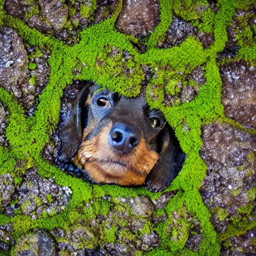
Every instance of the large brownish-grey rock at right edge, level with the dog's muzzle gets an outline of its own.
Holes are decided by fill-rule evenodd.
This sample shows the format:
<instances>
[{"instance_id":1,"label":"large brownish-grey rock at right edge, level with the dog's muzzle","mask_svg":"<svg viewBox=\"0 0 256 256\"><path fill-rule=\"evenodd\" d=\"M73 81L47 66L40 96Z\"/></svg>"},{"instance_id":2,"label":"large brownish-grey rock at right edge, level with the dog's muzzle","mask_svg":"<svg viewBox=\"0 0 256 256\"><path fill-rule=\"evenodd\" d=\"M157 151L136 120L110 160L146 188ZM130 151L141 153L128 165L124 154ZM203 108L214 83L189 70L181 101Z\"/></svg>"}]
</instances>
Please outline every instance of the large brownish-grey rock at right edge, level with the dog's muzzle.
<instances>
[{"instance_id":1,"label":"large brownish-grey rock at right edge, level with the dog's muzzle","mask_svg":"<svg viewBox=\"0 0 256 256\"><path fill-rule=\"evenodd\" d=\"M200 193L216 230L224 232L229 222L235 224L241 216L252 221L256 135L215 122L203 126L202 141L200 155L208 169Z\"/></svg>"}]
</instances>

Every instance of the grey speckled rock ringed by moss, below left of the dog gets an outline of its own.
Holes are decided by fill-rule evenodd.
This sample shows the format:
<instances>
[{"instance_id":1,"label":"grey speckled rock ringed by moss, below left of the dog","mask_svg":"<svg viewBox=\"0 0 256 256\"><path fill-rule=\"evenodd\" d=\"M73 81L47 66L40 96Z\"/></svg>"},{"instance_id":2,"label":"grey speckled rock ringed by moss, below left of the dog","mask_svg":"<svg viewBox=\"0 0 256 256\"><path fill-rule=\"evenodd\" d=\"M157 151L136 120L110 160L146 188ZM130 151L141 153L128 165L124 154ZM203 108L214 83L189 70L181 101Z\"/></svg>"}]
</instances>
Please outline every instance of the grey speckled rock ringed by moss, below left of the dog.
<instances>
[{"instance_id":1,"label":"grey speckled rock ringed by moss, below left of the dog","mask_svg":"<svg viewBox=\"0 0 256 256\"><path fill-rule=\"evenodd\" d=\"M7 215L20 212L33 219L54 215L70 201L70 188L55 184L54 179L41 178L34 167L28 169L18 184L12 199L17 202L6 207Z\"/></svg>"}]
</instances>

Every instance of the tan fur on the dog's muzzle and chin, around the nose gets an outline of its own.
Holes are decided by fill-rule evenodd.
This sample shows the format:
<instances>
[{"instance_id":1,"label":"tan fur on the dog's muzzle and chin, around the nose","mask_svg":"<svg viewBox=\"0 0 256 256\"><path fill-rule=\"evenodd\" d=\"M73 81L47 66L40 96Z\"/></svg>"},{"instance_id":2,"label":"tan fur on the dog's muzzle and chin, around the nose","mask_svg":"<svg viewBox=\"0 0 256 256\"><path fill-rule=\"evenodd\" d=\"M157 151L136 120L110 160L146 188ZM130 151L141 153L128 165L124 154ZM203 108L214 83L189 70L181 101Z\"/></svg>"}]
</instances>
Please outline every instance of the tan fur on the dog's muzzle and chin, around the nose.
<instances>
[{"instance_id":1,"label":"tan fur on the dog's muzzle and chin, around the nose","mask_svg":"<svg viewBox=\"0 0 256 256\"><path fill-rule=\"evenodd\" d=\"M147 149L143 137L132 152L123 155L114 152L108 144L111 127L110 123L97 136L82 142L74 157L75 164L82 165L98 183L143 184L159 157L158 153ZM85 134L88 134L87 128L84 129L83 138Z\"/></svg>"}]
</instances>

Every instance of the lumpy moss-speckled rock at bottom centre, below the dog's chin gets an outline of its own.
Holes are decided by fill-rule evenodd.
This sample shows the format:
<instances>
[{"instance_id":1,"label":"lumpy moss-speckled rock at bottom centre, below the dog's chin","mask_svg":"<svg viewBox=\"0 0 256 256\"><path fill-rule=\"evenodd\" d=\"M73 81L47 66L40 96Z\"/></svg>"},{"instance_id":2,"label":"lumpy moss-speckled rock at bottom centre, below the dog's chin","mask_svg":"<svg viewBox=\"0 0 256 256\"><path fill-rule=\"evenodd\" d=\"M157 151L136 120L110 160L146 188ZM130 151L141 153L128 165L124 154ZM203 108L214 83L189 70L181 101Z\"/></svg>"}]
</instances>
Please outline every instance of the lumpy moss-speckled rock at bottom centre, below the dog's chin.
<instances>
[{"instance_id":1,"label":"lumpy moss-speckled rock at bottom centre, below the dog's chin","mask_svg":"<svg viewBox=\"0 0 256 256\"><path fill-rule=\"evenodd\" d=\"M160 246L159 237L152 230L153 204L147 196L111 198L104 196L86 203L80 209L109 204L109 212L83 221L78 220L67 229L54 229L51 234L58 242L60 255L134 255L136 250L147 251ZM90 250L93 247L100 249Z\"/></svg>"}]
</instances>

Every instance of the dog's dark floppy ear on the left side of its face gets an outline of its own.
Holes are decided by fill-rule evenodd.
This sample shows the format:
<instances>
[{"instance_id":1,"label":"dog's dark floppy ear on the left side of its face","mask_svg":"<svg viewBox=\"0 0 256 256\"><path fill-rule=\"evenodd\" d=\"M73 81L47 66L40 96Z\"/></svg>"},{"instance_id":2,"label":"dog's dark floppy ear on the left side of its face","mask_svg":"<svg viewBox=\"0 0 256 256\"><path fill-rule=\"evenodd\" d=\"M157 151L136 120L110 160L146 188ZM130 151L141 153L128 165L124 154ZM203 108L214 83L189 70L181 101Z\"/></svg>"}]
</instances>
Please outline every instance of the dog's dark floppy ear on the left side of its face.
<instances>
[{"instance_id":1,"label":"dog's dark floppy ear on the left side of its face","mask_svg":"<svg viewBox=\"0 0 256 256\"><path fill-rule=\"evenodd\" d=\"M73 102L69 103L66 119L59 128L60 147L57 159L61 162L70 161L81 144L85 123L84 103L89 86L90 83L86 83Z\"/></svg>"}]
</instances>

